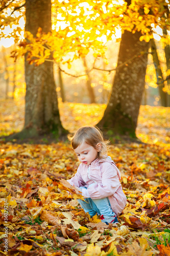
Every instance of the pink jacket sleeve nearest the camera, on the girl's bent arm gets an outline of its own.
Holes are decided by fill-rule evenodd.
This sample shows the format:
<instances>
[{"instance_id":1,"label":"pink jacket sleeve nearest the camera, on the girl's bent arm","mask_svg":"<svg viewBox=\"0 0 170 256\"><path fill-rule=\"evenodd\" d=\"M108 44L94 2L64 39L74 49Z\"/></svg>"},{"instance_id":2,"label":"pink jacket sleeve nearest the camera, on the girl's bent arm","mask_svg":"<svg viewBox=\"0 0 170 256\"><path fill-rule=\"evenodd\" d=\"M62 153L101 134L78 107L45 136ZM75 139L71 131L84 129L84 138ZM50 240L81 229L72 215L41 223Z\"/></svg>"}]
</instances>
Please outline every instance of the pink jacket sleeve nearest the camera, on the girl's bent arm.
<instances>
[{"instance_id":1,"label":"pink jacket sleeve nearest the camera, on the girl's bent arm","mask_svg":"<svg viewBox=\"0 0 170 256\"><path fill-rule=\"evenodd\" d=\"M102 181L93 183L87 191L92 199L112 196L120 186L117 169L108 162L102 163Z\"/></svg>"}]
</instances>

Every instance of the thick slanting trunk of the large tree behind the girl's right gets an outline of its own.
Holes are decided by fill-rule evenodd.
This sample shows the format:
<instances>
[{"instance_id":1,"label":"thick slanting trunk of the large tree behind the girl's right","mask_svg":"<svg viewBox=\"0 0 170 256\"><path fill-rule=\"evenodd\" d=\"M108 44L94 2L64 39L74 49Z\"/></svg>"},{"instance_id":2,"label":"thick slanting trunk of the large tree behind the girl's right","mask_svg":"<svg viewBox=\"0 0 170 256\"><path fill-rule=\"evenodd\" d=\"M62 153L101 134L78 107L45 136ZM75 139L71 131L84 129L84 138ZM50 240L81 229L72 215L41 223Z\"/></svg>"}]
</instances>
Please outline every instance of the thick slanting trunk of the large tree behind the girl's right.
<instances>
[{"instance_id":1,"label":"thick slanting trunk of the large tree behind the girl's right","mask_svg":"<svg viewBox=\"0 0 170 256\"><path fill-rule=\"evenodd\" d=\"M128 31L122 35L117 66L125 61L127 63L116 70L109 103L97 124L110 136L122 134L135 137L149 49L149 43L140 41L140 36L140 32L132 34Z\"/></svg>"}]
</instances>

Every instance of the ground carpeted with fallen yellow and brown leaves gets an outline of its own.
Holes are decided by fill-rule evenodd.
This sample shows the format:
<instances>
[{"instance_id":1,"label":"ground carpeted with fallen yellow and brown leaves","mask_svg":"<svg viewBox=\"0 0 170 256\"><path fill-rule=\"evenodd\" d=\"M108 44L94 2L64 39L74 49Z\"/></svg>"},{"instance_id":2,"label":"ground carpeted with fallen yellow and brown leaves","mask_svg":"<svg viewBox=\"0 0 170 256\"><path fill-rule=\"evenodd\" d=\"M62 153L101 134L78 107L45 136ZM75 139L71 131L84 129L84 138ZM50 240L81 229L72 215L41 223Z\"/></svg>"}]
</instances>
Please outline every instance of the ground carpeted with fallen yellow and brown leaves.
<instances>
[{"instance_id":1,"label":"ground carpeted with fallen yellow and brown leaves","mask_svg":"<svg viewBox=\"0 0 170 256\"><path fill-rule=\"evenodd\" d=\"M77 126L85 124L86 117L82 120L75 114L85 111L83 104L81 107L70 104L65 104L60 112L65 125L68 122L70 127L72 119L73 132ZM10 118L9 110L1 112L3 135L8 135L12 129L16 131L16 127L23 124L20 115L23 109L19 104L15 108L11 109L11 113L16 111L15 116L11 114ZM71 108L72 115L69 114ZM102 115L100 108L103 106L93 106L88 123ZM97 216L90 219L80 208L77 195L67 193L69 189L62 179L71 178L79 165L68 143L14 144L2 141L0 255L170 255L168 115L169 108L141 108L138 134L143 141L148 138L144 142L149 143L110 145L109 155L120 169L127 196L127 205L117 226L106 225ZM8 252L4 247L6 230Z\"/></svg>"}]
</instances>

